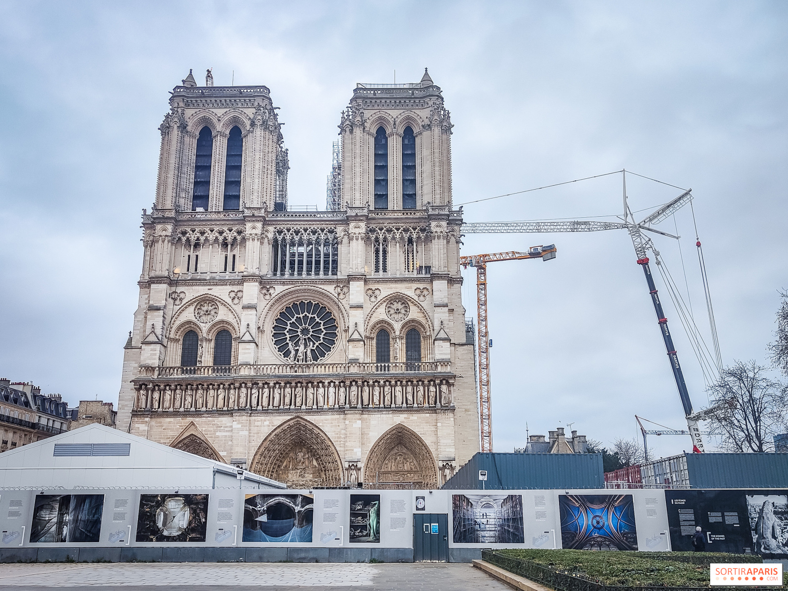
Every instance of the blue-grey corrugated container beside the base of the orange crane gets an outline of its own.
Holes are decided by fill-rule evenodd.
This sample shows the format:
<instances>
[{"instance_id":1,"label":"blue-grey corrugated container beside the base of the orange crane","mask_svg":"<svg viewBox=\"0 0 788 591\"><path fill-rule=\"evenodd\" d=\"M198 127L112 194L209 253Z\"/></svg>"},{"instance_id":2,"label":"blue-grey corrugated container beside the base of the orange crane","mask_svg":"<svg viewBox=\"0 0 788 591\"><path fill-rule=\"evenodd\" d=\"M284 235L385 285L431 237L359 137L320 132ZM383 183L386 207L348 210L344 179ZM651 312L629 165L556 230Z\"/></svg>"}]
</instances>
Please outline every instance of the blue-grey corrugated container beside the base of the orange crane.
<instances>
[{"instance_id":1,"label":"blue-grey corrugated container beside the base of the orange crane","mask_svg":"<svg viewBox=\"0 0 788 591\"><path fill-rule=\"evenodd\" d=\"M486 481L479 480L479 471ZM604 489L602 454L482 453L443 489Z\"/></svg>"}]
</instances>

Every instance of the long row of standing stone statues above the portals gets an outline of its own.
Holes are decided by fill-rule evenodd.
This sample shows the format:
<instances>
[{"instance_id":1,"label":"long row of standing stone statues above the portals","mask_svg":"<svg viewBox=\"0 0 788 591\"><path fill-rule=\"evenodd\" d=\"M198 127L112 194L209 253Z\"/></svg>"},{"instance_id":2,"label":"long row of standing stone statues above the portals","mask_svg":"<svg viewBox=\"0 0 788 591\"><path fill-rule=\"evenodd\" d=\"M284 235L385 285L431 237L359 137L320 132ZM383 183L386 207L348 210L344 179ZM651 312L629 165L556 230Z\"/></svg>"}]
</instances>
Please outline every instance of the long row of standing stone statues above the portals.
<instances>
[{"instance_id":1,"label":"long row of standing stone statues above the portals","mask_svg":"<svg viewBox=\"0 0 788 591\"><path fill-rule=\"evenodd\" d=\"M448 378L418 379L413 377L407 379L403 377L398 379L392 377L391 379L293 379L227 382L189 380L186 383L180 381L176 383L148 383L143 378L138 378L134 385L133 411L263 411L269 409L296 411L370 407L452 407L452 382L453 379Z\"/></svg>"}]
</instances>

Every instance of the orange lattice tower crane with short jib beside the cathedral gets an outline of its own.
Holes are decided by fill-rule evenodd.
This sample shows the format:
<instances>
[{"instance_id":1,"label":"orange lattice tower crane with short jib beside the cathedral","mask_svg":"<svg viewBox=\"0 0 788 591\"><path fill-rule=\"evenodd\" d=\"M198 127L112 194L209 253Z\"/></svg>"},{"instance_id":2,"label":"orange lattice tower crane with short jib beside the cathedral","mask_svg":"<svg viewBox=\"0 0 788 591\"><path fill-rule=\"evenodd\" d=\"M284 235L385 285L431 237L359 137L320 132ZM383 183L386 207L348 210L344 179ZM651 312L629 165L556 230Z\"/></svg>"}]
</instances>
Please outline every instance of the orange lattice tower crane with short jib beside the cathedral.
<instances>
[{"instance_id":1,"label":"orange lattice tower crane with short jib beside the cathedral","mask_svg":"<svg viewBox=\"0 0 788 591\"><path fill-rule=\"evenodd\" d=\"M479 422L481 451L492 452L492 404L490 403L490 357L489 332L487 330L487 263L494 261L519 261L522 258L541 258L549 261L556 258L556 245L530 247L528 252L493 252L489 255L460 257L459 264L465 269L476 267L476 299L478 303L479 333Z\"/></svg>"}]
</instances>

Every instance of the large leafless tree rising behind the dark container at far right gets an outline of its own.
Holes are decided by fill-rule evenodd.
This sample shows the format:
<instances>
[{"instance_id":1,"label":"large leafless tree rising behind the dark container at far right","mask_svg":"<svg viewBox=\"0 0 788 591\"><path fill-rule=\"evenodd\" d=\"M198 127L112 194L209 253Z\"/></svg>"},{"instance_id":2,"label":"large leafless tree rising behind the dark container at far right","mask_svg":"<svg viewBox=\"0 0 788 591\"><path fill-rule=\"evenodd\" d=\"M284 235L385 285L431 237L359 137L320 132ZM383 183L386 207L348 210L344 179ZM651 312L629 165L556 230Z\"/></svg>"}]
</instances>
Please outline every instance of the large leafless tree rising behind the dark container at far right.
<instances>
[{"instance_id":1,"label":"large leafless tree rising behind the dark container at far right","mask_svg":"<svg viewBox=\"0 0 788 591\"><path fill-rule=\"evenodd\" d=\"M786 388L754 361L737 362L708 388L706 416L711 432L727 452L768 452L788 415Z\"/></svg>"}]
</instances>

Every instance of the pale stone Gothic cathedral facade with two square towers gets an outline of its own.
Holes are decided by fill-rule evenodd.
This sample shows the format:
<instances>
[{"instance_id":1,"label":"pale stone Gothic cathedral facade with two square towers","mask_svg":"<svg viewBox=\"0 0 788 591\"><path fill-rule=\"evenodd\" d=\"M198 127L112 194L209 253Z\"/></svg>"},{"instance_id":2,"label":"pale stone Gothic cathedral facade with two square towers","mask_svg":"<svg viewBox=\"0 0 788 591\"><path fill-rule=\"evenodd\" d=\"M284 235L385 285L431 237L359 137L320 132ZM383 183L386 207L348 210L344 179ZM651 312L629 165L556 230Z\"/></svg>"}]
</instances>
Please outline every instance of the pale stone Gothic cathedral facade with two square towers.
<instances>
[{"instance_id":1,"label":"pale stone Gothic cathedral facade with two square towers","mask_svg":"<svg viewBox=\"0 0 788 591\"><path fill-rule=\"evenodd\" d=\"M118 426L293 488L436 488L479 449L429 74L358 84L326 211L288 208L269 89L173 89Z\"/></svg>"}]
</instances>

